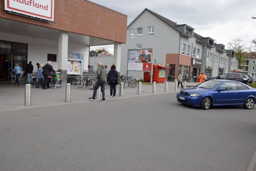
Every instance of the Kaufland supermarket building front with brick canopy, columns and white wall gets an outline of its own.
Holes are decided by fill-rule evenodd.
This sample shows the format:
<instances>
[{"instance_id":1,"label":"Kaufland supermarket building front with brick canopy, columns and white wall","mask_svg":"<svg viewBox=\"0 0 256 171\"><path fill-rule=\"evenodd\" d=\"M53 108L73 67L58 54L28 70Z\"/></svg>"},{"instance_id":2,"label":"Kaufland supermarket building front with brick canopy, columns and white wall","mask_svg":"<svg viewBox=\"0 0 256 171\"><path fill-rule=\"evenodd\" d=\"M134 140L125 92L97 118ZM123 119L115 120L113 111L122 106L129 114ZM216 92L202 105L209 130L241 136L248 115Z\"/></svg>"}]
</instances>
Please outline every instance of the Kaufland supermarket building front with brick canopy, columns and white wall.
<instances>
[{"instance_id":1,"label":"Kaufland supermarket building front with brick canopy, columns and white wall","mask_svg":"<svg viewBox=\"0 0 256 171\"><path fill-rule=\"evenodd\" d=\"M67 75L68 62L88 70L90 46L114 44L120 72L121 43L126 43L127 16L87 0L0 0L0 80L9 80L18 63L32 61ZM64 81L65 83L65 81Z\"/></svg>"}]
</instances>

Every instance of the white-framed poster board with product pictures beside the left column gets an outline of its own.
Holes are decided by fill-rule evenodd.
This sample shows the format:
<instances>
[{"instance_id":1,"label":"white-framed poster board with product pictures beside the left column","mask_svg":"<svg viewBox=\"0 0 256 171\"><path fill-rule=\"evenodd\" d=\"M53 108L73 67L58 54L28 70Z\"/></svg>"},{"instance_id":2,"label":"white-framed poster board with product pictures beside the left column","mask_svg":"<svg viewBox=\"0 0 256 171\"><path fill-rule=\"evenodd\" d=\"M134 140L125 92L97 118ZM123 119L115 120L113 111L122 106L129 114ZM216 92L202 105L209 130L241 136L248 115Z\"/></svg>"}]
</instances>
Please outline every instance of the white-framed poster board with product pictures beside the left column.
<instances>
[{"instance_id":1,"label":"white-framed poster board with product pictures beside the left column","mask_svg":"<svg viewBox=\"0 0 256 171\"><path fill-rule=\"evenodd\" d=\"M82 74L82 60L68 59L67 73L68 74Z\"/></svg>"}]
</instances>

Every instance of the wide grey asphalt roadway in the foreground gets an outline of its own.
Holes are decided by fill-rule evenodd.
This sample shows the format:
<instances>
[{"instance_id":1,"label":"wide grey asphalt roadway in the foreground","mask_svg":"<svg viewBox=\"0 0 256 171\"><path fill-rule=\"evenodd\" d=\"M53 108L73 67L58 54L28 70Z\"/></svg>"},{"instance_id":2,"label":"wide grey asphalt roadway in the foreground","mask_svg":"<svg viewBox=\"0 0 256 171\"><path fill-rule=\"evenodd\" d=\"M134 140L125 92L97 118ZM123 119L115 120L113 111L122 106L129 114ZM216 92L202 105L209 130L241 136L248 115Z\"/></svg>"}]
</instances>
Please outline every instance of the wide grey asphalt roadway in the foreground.
<instances>
[{"instance_id":1,"label":"wide grey asphalt roadway in the foreground","mask_svg":"<svg viewBox=\"0 0 256 171\"><path fill-rule=\"evenodd\" d=\"M182 105L175 93L0 113L0 170L245 171L256 108Z\"/></svg>"}]
</instances>

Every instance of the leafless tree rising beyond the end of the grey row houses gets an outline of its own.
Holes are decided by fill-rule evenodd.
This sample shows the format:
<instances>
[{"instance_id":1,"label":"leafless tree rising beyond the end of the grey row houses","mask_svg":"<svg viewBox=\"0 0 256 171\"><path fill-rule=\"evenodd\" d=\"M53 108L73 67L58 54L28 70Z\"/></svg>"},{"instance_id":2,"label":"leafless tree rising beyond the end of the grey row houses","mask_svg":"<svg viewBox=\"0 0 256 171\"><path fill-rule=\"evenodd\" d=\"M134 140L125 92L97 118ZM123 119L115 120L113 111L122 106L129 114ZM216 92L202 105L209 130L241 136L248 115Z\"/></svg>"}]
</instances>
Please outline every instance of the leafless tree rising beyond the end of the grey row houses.
<instances>
[{"instance_id":1,"label":"leafless tree rising beyond the end of the grey row houses","mask_svg":"<svg viewBox=\"0 0 256 171\"><path fill-rule=\"evenodd\" d=\"M244 57L247 49L242 39L240 39L239 37L234 39L232 42L228 42L228 48L234 50L235 56L239 59L242 59ZM238 61L238 67L240 67L240 62L241 60Z\"/></svg>"}]
</instances>

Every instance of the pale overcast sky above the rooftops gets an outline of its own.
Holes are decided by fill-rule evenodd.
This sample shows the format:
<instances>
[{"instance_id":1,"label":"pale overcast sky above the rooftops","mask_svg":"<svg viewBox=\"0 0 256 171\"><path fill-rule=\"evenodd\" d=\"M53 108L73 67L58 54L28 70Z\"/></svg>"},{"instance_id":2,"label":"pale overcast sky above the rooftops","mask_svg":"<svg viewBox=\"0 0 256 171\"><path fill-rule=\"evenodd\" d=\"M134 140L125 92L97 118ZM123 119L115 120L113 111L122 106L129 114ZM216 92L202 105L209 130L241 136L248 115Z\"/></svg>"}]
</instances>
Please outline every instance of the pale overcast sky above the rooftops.
<instances>
[{"instance_id":1,"label":"pale overcast sky above the rooftops","mask_svg":"<svg viewBox=\"0 0 256 171\"><path fill-rule=\"evenodd\" d=\"M187 24L217 43L241 38L249 46L256 37L256 0L92 0L128 15L127 25L145 8L177 24ZM112 51L112 46L109 50ZM113 53L113 52L112 52Z\"/></svg>"}]
</instances>

